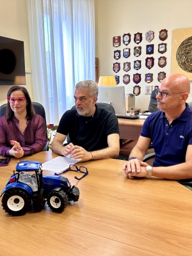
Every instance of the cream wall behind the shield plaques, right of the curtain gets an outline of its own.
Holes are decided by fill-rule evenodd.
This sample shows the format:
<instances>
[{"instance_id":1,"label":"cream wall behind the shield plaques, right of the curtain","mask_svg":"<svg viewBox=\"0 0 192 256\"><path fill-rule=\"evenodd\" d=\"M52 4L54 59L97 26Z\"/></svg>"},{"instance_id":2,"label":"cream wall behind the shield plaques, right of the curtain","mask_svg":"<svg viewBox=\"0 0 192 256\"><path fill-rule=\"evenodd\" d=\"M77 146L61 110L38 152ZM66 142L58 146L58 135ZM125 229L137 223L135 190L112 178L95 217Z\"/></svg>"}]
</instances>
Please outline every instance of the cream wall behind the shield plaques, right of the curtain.
<instances>
[{"instance_id":1,"label":"cream wall behind the shield plaques, right of the curtain","mask_svg":"<svg viewBox=\"0 0 192 256\"><path fill-rule=\"evenodd\" d=\"M148 108L149 95L145 95L145 74L154 74L154 81L150 84L160 85L157 81L157 73L164 71L166 76L170 74L171 61L171 46L172 46L172 30L192 28L191 19L192 1L191 0L95 0L95 38L96 38L96 55L99 58L99 75L100 76L120 76L120 84L125 86L125 93L132 93L133 74L141 74L141 93L136 96L136 108L141 108L141 111ZM168 38L164 41L167 44L167 51L160 54L158 44L159 31L161 29L168 30ZM154 31L154 40L150 43L145 39L147 31ZM134 43L134 34L142 33L143 40L138 45L141 46L141 56L135 57L133 49L137 44ZM113 47L113 36L121 36L124 33L131 34L131 43L125 46L121 42L120 47ZM146 54L146 45L154 44L154 54ZM131 56L124 58L123 56L117 62L121 63L121 70L118 73L113 71L113 63L116 60L113 58L116 49L123 51L125 48L131 48ZM150 70L145 67L145 58L153 56L155 65ZM157 64L158 58L165 56L167 59L166 67L160 68ZM134 60L141 60L141 68L135 70L133 68ZM123 70L124 62L131 62L131 70L128 72L131 82L124 84L122 77L126 72ZM191 83L192 85L192 83ZM191 90L192 91L192 90ZM189 95L188 102L192 102L192 92Z\"/></svg>"}]
</instances>

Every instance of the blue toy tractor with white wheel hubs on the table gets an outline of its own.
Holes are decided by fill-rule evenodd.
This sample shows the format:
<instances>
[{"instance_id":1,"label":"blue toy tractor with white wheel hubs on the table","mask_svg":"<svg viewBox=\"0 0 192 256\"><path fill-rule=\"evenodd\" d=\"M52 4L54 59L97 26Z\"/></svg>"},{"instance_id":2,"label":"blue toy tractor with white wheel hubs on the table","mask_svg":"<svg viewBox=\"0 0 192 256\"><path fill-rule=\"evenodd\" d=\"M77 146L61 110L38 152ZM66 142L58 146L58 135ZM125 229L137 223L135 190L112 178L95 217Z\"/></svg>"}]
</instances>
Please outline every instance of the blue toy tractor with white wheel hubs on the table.
<instances>
[{"instance_id":1,"label":"blue toy tractor with white wheel hubs on the table","mask_svg":"<svg viewBox=\"0 0 192 256\"><path fill-rule=\"evenodd\" d=\"M45 202L54 212L62 212L68 201L78 201L79 189L71 186L67 178L60 175L42 175L42 164L38 161L20 161L16 172L3 189L1 205L13 216L25 214L31 201L33 209L42 209Z\"/></svg>"}]
</instances>

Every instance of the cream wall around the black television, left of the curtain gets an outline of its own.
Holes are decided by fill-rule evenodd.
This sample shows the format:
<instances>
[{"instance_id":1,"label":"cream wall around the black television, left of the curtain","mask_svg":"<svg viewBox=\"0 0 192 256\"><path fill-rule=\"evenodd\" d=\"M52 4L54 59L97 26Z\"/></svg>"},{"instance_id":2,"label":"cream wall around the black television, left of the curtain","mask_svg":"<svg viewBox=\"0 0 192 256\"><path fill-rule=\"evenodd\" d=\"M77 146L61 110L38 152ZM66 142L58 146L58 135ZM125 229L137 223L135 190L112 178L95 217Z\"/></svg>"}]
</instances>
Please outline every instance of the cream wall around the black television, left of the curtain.
<instances>
[{"instance_id":1,"label":"cream wall around the black television, left of the curtain","mask_svg":"<svg viewBox=\"0 0 192 256\"><path fill-rule=\"evenodd\" d=\"M31 70L26 0L0 0L0 36L24 41L25 67ZM0 86L0 106L7 102L6 93L11 87ZM31 74L26 74L26 88L33 100Z\"/></svg>"}]
</instances>

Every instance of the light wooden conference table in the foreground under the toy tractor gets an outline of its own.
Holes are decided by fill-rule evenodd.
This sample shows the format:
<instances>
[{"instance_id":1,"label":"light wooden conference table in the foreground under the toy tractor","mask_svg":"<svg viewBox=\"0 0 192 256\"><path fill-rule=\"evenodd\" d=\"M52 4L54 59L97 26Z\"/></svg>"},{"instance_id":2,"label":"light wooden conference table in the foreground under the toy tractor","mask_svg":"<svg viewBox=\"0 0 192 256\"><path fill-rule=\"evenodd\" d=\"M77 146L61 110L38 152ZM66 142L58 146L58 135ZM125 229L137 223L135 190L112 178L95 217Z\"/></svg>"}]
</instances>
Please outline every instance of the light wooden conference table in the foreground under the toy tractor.
<instances>
[{"instance_id":1,"label":"light wooden conference table in the foreground under the toy tractor","mask_svg":"<svg viewBox=\"0 0 192 256\"><path fill-rule=\"evenodd\" d=\"M40 152L22 160L44 163L56 156ZM1 190L16 163L0 167ZM124 163L78 163L89 172L79 181L65 173L80 197L61 214L47 205L18 217L0 209L0 255L191 255L191 191L171 180L127 179Z\"/></svg>"}]
</instances>

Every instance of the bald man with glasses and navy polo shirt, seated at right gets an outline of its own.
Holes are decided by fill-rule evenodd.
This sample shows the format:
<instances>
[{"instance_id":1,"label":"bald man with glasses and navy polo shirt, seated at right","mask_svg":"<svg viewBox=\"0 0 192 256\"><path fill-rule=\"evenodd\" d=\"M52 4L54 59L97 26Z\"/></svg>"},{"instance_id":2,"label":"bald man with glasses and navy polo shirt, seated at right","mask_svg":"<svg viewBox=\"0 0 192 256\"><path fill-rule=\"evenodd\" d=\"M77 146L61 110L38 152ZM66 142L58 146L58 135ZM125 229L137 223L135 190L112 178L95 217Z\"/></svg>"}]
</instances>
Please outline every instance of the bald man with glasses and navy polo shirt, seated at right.
<instances>
[{"instance_id":1,"label":"bald man with glasses and navy polo shirt, seated at right","mask_svg":"<svg viewBox=\"0 0 192 256\"><path fill-rule=\"evenodd\" d=\"M162 81L156 97L161 111L145 120L138 143L123 166L127 177L155 176L192 187L192 111L186 103L189 92L189 79L182 74ZM150 143L156 152L153 166L143 163Z\"/></svg>"}]
</instances>

